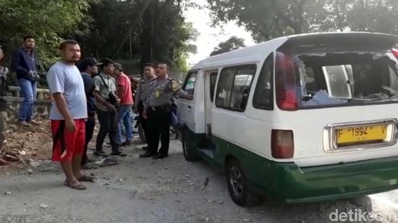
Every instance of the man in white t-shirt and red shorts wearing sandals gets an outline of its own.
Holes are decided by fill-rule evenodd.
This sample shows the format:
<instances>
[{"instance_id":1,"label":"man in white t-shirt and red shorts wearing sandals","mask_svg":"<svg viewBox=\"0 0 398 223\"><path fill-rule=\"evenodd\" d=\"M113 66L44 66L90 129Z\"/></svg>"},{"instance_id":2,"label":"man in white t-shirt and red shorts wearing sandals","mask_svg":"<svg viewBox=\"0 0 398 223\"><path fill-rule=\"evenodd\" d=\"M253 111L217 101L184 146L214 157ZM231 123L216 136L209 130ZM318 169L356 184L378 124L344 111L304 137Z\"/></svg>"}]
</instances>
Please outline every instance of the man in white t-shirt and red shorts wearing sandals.
<instances>
[{"instance_id":1,"label":"man in white t-shirt and red shorts wearing sandals","mask_svg":"<svg viewBox=\"0 0 398 223\"><path fill-rule=\"evenodd\" d=\"M48 87L54 101L49 119L53 132L53 161L60 162L65 173L65 185L84 190L83 181L93 181L81 173L80 164L85 146L87 119L86 93L79 69L80 46L74 40L60 45L62 60L47 73Z\"/></svg>"}]
</instances>

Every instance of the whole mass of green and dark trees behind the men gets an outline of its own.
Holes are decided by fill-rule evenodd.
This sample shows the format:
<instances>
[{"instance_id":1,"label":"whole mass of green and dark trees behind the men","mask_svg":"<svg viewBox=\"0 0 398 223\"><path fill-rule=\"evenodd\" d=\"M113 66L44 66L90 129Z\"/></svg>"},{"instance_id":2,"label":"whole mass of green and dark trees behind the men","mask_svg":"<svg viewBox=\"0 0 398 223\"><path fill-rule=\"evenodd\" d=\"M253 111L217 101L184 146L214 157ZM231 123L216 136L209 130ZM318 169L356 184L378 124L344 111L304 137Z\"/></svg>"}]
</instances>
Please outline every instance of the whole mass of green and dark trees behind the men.
<instances>
[{"instance_id":1,"label":"whole mass of green and dark trees behind the men","mask_svg":"<svg viewBox=\"0 0 398 223\"><path fill-rule=\"evenodd\" d=\"M6 48L2 63L30 35L44 71L59 59L63 39L77 40L83 57L161 60L187 70L187 56L196 52L191 41L198 35L182 16L189 7L197 6L189 0L0 0L0 44Z\"/></svg>"}]
</instances>

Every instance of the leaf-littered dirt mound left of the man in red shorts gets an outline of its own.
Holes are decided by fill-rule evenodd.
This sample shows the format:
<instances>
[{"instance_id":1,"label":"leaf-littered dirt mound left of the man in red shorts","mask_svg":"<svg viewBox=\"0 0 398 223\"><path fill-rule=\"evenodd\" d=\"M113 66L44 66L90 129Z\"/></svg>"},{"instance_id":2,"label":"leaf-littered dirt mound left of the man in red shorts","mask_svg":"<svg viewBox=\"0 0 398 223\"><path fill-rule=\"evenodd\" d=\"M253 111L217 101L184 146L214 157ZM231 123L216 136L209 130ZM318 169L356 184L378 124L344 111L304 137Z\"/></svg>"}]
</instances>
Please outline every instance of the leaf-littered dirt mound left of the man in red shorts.
<instances>
[{"instance_id":1,"label":"leaf-littered dirt mound left of the man in red shorts","mask_svg":"<svg viewBox=\"0 0 398 223\"><path fill-rule=\"evenodd\" d=\"M33 159L49 159L52 154L52 137L49 120L37 120L38 125L21 126L7 123L6 142L1 156L12 162L11 167L23 167Z\"/></svg>"}]
</instances>

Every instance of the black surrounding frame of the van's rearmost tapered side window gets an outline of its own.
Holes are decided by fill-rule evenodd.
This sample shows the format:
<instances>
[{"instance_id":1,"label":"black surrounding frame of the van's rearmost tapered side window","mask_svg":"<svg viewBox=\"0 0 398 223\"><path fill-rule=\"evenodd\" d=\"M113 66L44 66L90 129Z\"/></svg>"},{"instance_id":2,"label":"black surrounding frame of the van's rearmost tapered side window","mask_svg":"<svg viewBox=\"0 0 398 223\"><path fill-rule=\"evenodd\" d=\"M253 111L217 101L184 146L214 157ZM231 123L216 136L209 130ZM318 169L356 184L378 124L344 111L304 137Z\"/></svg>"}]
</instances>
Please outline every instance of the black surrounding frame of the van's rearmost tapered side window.
<instances>
[{"instance_id":1,"label":"black surrounding frame of the van's rearmost tapered side window","mask_svg":"<svg viewBox=\"0 0 398 223\"><path fill-rule=\"evenodd\" d=\"M265 70L265 66L267 66L267 62L268 60L272 60L272 67L271 67L271 80L270 80L270 85L271 85L271 94L269 95L270 97L270 104L269 105L257 105L255 102L255 96L256 94L258 94L259 88L260 88L260 82L259 79L262 75L265 75L264 72L266 72ZM258 75L258 78L256 80L256 88L254 89L253 92L253 98L252 98L252 106L256 109L261 109L261 110L273 110L274 106L273 104L275 103L273 97L275 96L275 87L273 86L273 82L274 82L274 76L275 76L275 52L270 52L269 55L265 58L263 66L261 67L260 73Z\"/></svg>"}]
</instances>

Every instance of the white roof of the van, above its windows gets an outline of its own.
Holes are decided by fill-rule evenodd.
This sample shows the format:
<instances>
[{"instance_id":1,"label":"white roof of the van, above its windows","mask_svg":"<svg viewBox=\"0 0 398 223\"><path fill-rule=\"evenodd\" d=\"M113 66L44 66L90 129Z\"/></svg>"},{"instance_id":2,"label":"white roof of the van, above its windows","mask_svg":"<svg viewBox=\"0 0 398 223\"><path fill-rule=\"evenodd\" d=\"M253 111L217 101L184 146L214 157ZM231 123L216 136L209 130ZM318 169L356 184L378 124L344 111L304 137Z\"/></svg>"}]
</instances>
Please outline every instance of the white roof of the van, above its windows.
<instances>
[{"instance_id":1,"label":"white roof of the van, above its windows","mask_svg":"<svg viewBox=\"0 0 398 223\"><path fill-rule=\"evenodd\" d=\"M377 39L377 42L381 44L390 45L391 47L397 43L398 36L383 34L383 33L368 33L368 32L330 32L330 33L310 33L310 34L299 34L279 37L272 39L263 43L259 43L253 46L244 47L241 49L233 50L230 52L214 55L212 57L206 58L197 64L195 64L191 70L201 69L201 68L216 68L222 66L228 66L231 64L246 64L257 62L263 60L265 57L264 52L275 50L287 41L294 43L309 42L311 43L313 39L351 39L355 40L357 38L361 39Z\"/></svg>"}]
</instances>

